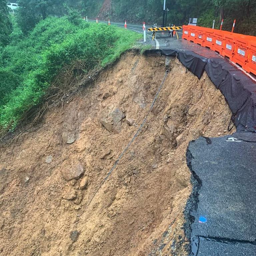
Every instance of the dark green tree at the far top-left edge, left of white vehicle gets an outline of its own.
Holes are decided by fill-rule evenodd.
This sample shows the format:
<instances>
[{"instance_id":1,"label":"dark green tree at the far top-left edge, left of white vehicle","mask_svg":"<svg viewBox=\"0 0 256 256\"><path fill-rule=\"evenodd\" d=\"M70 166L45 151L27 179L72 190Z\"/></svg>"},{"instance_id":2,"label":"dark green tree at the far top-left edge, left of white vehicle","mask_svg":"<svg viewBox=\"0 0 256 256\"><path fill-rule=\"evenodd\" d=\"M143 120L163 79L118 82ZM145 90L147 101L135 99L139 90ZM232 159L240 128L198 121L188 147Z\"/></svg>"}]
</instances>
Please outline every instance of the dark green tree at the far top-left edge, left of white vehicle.
<instances>
[{"instance_id":1,"label":"dark green tree at the far top-left edge, left of white vehicle","mask_svg":"<svg viewBox=\"0 0 256 256\"><path fill-rule=\"evenodd\" d=\"M12 31L12 23L9 18L9 10L6 2L0 0L0 46L9 42L9 35Z\"/></svg>"}]
</instances>

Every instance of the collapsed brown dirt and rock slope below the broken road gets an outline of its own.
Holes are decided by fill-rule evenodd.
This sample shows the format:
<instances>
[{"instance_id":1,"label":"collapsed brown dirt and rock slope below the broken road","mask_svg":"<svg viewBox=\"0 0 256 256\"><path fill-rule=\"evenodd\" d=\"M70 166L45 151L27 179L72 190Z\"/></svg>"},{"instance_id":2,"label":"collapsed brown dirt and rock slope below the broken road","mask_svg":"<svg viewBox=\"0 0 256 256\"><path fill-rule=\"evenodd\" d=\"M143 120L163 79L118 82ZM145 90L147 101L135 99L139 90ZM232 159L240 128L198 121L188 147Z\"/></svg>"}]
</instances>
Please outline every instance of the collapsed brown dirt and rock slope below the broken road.
<instances>
[{"instance_id":1,"label":"collapsed brown dirt and rock slope below the broken road","mask_svg":"<svg viewBox=\"0 0 256 256\"><path fill-rule=\"evenodd\" d=\"M228 134L231 113L206 74L171 59L122 56L40 127L0 147L0 255L186 255L188 142Z\"/></svg>"}]
</instances>

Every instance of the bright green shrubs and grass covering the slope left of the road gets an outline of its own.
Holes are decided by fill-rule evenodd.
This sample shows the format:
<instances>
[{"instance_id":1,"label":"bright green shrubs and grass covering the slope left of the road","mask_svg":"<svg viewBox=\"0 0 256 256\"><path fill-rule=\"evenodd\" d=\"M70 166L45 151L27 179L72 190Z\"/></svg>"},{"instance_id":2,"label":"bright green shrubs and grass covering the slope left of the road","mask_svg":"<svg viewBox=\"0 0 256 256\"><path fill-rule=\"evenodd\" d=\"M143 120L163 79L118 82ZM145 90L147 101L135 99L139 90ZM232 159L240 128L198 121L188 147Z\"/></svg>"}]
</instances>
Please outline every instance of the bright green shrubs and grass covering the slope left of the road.
<instances>
[{"instance_id":1,"label":"bright green shrubs and grass covering the slope left of the road","mask_svg":"<svg viewBox=\"0 0 256 256\"><path fill-rule=\"evenodd\" d=\"M28 35L14 23L10 43L0 48L0 129L14 128L40 103L63 66L79 60L86 74L115 60L141 37L74 17L48 17Z\"/></svg>"}]
</instances>

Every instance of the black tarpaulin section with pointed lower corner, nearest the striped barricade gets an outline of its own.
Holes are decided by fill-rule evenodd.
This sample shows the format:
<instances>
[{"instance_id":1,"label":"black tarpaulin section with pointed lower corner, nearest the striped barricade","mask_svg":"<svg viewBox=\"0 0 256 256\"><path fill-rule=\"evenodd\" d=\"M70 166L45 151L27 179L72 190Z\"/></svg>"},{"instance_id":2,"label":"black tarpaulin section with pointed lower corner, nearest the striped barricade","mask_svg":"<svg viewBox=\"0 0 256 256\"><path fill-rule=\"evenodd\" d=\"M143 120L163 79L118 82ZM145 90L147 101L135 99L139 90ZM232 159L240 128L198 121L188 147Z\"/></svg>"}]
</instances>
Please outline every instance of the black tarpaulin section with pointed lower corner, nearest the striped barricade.
<instances>
[{"instance_id":1,"label":"black tarpaulin section with pointed lower corner, nearest the striped barricade","mask_svg":"<svg viewBox=\"0 0 256 256\"><path fill-rule=\"evenodd\" d=\"M204 67L208 61L207 58L192 51L178 51L178 59L199 79L201 78L204 72Z\"/></svg>"}]
</instances>

